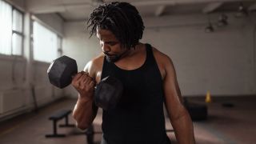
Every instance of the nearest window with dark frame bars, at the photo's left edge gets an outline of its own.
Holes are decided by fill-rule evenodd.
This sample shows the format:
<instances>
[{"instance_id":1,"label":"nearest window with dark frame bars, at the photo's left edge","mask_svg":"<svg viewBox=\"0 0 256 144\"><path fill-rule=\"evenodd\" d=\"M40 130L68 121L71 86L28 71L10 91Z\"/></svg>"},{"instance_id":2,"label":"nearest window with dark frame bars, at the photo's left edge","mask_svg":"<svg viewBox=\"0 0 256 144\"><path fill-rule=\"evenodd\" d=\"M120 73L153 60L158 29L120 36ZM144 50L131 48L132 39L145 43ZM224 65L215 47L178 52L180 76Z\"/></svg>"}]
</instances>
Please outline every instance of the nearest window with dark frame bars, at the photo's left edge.
<instances>
[{"instance_id":1,"label":"nearest window with dark frame bars, at the photo's left edge","mask_svg":"<svg viewBox=\"0 0 256 144\"><path fill-rule=\"evenodd\" d=\"M23 14L0 0L0 20L0 54L22 55Z\"/></svg>"}]
</instances>

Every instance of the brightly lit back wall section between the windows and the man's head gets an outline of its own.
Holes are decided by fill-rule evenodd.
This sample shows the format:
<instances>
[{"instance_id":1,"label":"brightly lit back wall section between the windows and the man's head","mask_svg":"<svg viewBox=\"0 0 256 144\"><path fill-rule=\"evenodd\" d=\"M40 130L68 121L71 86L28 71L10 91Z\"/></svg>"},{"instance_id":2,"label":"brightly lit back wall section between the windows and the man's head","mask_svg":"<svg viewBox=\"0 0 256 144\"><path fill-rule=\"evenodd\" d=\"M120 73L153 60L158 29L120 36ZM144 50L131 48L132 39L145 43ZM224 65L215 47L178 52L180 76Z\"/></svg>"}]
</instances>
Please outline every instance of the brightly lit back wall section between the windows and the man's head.
<instances>
[{"instance_id":1,"label":"brightly lit back wall section between the windows and the man's head","mask_svg":"<svg viewBox=\"0 0 256 144\"><path fill-rule=\"evenodd\" d=\"M65 22L63 39L63 54L74 58L78 64L78 71L86 66L90 59L101 52L98 39L86 30L86 22ZM77 92L72 86L66 88L67 95L77 97Z\"/></svg>"}]
</instances>

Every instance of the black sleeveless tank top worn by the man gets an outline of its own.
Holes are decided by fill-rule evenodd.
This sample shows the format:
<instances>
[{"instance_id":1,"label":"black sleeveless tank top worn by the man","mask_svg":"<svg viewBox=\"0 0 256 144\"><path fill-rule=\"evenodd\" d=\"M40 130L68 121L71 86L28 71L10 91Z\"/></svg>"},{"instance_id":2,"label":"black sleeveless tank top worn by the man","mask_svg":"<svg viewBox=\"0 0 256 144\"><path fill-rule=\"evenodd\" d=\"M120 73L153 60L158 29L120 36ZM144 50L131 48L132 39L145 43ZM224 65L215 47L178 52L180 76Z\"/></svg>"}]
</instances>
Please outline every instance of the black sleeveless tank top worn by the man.
<instances>
[{"instance_id":1,"label":"black sleeveless tank top worn by the man","mask_svg":"<svg viewBox=\"0 0 256 144\"><path fill-rule=\"evenodd\" d=\"M124 90L113 110L103 110L103 138L108 144L166 144L162 77L152 47L146 44L146 61L135 70L122 70L104 58L102 78L121 80Z\"/></svg>"}]
</instances>

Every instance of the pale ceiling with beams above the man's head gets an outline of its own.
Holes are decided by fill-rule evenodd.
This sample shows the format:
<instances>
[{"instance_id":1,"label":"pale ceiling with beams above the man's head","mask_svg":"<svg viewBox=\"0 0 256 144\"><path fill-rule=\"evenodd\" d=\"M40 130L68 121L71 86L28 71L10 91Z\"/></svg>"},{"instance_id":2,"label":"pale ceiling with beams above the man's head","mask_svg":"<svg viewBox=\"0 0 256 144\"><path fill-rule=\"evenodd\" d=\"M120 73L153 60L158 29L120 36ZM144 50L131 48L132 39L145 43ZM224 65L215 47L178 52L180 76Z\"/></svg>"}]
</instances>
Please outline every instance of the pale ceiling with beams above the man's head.
<instances>
[{"instance_id":1,"label":"pale ceiling with beams above the man's head","mask_svg":"<svg viewBox=\"0 0 256 144\"><path fill-rule=\"evenodd\" d=\"M26 9L34 14L58 14L64 21L83 21L98 4L114 0L26 0ZM126 0L138 8L142 17L174 14L208 14L237 11L244 6L256 10L256 0Z\"/></svg>"}]
</instances>

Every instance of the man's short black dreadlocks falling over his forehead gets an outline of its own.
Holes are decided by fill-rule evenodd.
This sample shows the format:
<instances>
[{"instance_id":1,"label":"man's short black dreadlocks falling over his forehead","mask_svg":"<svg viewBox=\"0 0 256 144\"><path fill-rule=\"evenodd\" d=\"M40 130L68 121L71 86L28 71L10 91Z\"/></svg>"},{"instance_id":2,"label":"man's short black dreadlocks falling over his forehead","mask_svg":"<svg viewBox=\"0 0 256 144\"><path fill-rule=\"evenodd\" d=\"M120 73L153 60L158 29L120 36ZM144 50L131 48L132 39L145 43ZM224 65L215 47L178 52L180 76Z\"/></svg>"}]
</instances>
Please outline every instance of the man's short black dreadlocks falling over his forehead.
<instances>
[{"instance_id":1,"label":"man's short black dreadlocks falling over his forehead","mask_svg":"<svg viewBox=\"0 0 256 144\"><path fill-rule=\"evenodd\" d=\"M123 48L130 49L142 38L145 26L135 6L127 2L112 2L98 6L90 14L87 28L91 27L90 37L96 34L97 27L110 30Z\"/></svg>"}]
</instances>

